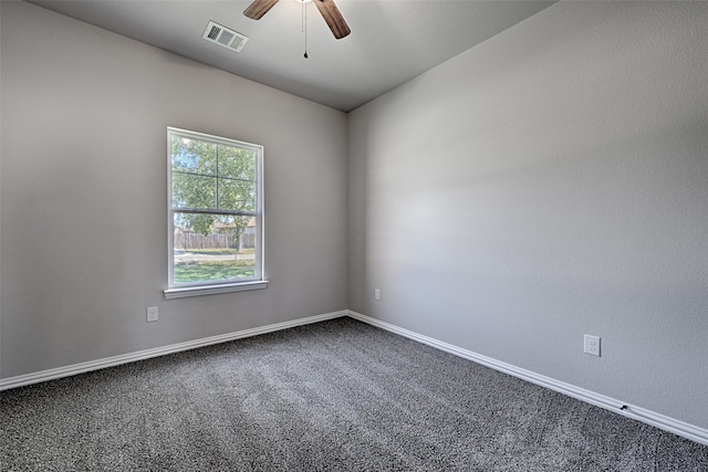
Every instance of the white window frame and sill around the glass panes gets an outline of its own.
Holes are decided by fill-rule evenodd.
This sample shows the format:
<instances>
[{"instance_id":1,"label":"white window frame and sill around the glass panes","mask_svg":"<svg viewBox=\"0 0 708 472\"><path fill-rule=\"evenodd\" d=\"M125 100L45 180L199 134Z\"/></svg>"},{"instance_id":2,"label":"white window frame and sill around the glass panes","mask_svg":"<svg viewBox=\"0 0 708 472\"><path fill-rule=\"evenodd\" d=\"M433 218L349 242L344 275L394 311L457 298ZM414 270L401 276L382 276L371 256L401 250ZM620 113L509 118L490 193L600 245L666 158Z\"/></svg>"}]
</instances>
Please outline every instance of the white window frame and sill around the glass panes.
<instances>
[{"instance_id":1,"label":"white window frame and sill around the glass panes","mask_svg":"<svg viewBox=\"0 0 708 472\"><path fill-rule=\"evenodd\" d=\"M179 209L173 207L173 165L171 165L171 137L207 141L217 145L238 147L256 153L256 270L253 277L243 281L206 281L191 283L175 283L175 212ZM184 209L183 209L184 211ZM229 214L214 210L211 214ZM230 213L233 214L233 213ZM250 216L250 214L249 214ZM263 146L244 143L220 136L208 135L175 127L167 128L167 218L168 218L168 286L165 289L166 298L179 298L186 296L209 295L215 293L240 292L247 290L258 290L268 287L268 280L264 276L263 260Z\"/></svg>"}]
</instances>

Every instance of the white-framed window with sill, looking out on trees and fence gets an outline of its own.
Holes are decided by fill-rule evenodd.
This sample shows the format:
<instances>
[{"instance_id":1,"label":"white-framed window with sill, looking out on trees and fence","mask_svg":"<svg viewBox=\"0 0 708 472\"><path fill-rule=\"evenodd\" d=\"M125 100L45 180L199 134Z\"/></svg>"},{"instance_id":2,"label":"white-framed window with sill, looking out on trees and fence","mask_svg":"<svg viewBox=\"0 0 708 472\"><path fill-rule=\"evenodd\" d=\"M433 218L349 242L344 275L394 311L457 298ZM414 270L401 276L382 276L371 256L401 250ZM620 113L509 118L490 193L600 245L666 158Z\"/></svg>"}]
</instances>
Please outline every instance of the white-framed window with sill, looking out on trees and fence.
<instances>
[{"instance_id":1,"label":"white-framed window with sill, looking out on trees and fence","mask_svg":"<svg viewBox=\"0 0 708 472\"><path fill-rule=\"evenodd\" d=\"M264 289L263 147L167 129L167 298Z\"/></svg>"}]
</instances>

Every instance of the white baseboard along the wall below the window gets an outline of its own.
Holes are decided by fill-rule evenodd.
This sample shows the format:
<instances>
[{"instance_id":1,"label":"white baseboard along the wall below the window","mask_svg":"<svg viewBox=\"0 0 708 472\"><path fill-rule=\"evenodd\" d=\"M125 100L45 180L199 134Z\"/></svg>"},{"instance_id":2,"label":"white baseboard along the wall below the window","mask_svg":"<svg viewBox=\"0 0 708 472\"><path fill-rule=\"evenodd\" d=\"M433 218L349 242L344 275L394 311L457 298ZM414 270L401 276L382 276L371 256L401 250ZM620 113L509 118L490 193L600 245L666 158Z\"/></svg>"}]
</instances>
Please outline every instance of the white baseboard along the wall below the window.
<instances>
[{"instance_id":1,"label":"white baseboard along the wall below the window","mask_svg":"<svg viewBox=\"0 0 708 472\"><path fill-rule=\"evenodd\" d=\"M181 350L196 349L198 347L210 346L212 344L227 343L229 340L241 339L259 334L272 333L281 329L288 329L295 326L309 325L311 323L323 322L325 319L339 318L346 316L346 311L325 313L323 315L309 316L306 318L293 319L291 322L277 323L273 325L260 326L251 329L243 329L236 333L227 333L218 336L205 337L201 339L188 340L186 343L171 344L169 346L156 347L153 349L138 350L136 353L123 354L119 356L106 357L103 359L91 360L87 363L74 364L66 367L55 369L41 370L39 373L27 374L17 377L0 379L0 390L9 388L22 387L24 385L39 384L41 381L53 380L62 377L74 376L91 370L104 369L121 364L134 363L136 360L149 359L152 357L164 356L166 354L179 353Z\"/></svg>"}]
</instances>

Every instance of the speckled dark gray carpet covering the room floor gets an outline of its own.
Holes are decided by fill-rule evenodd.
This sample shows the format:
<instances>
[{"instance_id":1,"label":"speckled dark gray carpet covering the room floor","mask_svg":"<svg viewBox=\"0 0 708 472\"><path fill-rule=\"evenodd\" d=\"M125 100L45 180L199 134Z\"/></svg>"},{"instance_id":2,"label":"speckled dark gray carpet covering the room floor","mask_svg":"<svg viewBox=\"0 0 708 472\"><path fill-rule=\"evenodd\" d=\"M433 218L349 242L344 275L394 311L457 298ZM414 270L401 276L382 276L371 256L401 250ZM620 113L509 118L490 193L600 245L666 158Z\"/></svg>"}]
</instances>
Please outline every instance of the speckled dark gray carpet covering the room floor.
<instances>
[{"instance_id":1,"label":"speckled dark gray carpet covering the room floor","mask_svg":"<svg viewBox=\"0 0 708 472\"><path fill-rule=\"evenodd\" d=\"M708 447L351 318L0 397L3 471L708 471Z\"/></svg>"}]
</instances>

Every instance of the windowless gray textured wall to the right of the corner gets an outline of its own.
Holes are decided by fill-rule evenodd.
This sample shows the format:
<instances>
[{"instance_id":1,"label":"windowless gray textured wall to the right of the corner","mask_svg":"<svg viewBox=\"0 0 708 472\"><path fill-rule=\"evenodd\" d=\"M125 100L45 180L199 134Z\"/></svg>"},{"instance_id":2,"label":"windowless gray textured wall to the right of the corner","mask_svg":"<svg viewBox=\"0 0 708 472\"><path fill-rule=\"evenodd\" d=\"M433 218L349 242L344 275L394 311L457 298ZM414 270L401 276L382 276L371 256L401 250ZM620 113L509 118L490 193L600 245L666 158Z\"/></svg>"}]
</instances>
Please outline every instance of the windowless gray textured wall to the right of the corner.
<instances>
[{"instance_id":1,"label":"windowless gray textured wall to the right of the corner","mask_svg":"<svg viewBox=\"0 0 708 472\"><path fill-rule=\"evenodd\" d=\"M556 3L354 111L350 308L708 427L706 25Z\"/></svg>"}]
</instances>

